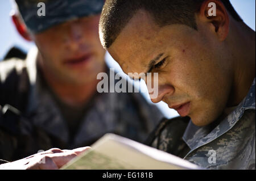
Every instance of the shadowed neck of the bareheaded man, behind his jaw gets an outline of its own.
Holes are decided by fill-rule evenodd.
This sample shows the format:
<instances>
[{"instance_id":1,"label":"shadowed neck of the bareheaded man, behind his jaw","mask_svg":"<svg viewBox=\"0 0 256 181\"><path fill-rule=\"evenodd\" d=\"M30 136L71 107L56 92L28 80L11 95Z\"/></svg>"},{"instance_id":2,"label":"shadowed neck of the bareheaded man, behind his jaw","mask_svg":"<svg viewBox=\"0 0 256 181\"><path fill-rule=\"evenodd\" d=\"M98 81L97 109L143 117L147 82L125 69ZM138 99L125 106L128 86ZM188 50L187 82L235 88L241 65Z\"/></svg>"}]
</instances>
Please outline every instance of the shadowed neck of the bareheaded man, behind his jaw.
<instances>
[{"instance_id":1,"label":"shadowed neck of the bareheaded man, behind his jaw","mask_svg":"<svg viewBox=\"0 0 256 181\"><path fill-rule=\"evenodd\" d=\"M255 78L255 31L245 23L230 23L234 74L228 107L237 106L247 95Z\"/></svg>"}]
</instances>

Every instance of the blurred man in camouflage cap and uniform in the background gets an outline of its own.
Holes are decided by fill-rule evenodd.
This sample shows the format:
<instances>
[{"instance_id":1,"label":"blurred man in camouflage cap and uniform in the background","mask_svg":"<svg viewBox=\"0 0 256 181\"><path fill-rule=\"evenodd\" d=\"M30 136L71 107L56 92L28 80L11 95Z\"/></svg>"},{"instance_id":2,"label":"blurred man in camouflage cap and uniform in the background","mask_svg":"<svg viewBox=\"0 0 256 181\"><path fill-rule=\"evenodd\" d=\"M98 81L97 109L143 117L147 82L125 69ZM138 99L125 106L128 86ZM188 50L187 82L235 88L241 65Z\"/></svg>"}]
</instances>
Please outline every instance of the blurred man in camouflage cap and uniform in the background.
<instances>
[{"instance_id":1,"label":"blurred man in camouflage cap and uniform in the background","mask_svg":"<svg viewBox=\"0 0 256 181\"><path fill-rule=\"evenodd\" d=\"M104 1L15 3L15 27L36 47L26 60L0 63L0 159L89 146L106 132L142 142L162 118L159 110L139 93L96 89L97 74L110 73L98 37ZM56 152L63 153L48 151Z\"/></svg>"}]
</instances>

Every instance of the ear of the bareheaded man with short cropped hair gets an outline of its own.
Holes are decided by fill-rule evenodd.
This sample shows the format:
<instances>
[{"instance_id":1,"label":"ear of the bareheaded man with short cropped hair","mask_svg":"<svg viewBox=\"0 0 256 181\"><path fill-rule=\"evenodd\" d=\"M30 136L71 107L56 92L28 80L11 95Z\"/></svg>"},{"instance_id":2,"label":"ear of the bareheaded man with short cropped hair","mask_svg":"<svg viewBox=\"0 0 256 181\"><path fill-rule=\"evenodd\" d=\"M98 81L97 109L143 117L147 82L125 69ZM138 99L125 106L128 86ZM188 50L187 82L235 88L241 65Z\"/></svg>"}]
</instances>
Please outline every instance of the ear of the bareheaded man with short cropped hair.
<instances>
[{"instance_id":1,"label":"ear of the bareheaded man with short cropped hair","mask_svg":"<svg viewBox=\"0 0 256 181\"><path fill-rule=\"evenodd\" d=\"M226 39L229 33L229 14L220 0L206 0L200 8L200 19L210 23L210 28L220 41Z\"/></svg>"}]
</instances>

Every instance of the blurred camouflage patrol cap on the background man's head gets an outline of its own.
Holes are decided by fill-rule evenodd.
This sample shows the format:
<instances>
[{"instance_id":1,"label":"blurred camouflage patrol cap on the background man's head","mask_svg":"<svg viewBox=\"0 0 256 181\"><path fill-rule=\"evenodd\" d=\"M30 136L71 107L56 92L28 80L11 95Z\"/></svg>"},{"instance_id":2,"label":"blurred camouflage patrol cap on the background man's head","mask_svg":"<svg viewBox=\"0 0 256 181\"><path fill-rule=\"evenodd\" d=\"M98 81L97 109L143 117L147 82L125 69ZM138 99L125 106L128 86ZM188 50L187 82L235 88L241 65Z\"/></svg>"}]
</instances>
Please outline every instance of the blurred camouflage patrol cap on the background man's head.
<instances>
[{"instance_id":1,"label":"blurred camouflage patrol cap on the background man's head","mask_svg":"<svg viewBox=\"0 0 256 181\"><path fill-rule=\"evenodd\" d=\"M100 14L104 0L15 0L24 23L39 33L67 20ZM45 7L45 14L38 14Z\"/></svg>"}]
</instances>

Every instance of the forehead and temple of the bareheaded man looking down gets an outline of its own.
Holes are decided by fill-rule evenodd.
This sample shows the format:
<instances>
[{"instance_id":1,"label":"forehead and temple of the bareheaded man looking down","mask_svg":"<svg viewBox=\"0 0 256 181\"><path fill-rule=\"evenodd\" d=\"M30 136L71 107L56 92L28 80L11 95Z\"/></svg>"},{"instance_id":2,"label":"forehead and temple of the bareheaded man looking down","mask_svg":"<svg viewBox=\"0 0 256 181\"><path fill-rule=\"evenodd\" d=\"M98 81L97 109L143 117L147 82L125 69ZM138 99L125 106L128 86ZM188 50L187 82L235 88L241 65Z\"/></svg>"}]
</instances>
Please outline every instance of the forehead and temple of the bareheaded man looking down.
<instances>
[{"instance_id":1,"label":"forehead and temple of the bareheaded man looking down","mask_svg":"<svg viewBox=\"0 0 256 181\"><path fill-rule=\"evenodd\" d=\"M146 73L150 62L159 55L172 56L175 52L182 52L194 32L197 31L184 24L159 27L150 14L141 10L119 33L109 53L125 73Z\"/></svg>"}]
</instances>

